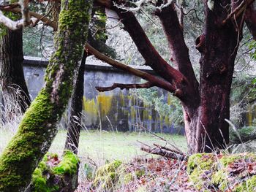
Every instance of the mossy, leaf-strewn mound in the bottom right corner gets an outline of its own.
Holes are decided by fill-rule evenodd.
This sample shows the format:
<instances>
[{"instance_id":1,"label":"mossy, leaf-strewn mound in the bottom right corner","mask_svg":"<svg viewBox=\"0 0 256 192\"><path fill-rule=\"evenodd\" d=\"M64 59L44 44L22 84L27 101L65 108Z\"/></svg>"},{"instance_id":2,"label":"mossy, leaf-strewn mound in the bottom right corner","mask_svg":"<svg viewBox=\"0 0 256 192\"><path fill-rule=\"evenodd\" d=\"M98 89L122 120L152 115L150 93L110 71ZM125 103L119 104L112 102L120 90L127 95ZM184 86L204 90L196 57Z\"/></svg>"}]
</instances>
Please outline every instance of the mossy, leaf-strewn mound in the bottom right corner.
<instances>
[{"instance_id":1,"label":"mossy, leaf-strewn mound in the bottom right corner","mask_svg":"<svg viewBox=\"0 0 256 192\"><path fill-rule=\"evenodd\" d=\"M189 157L187 173L197 190L255 191L256 155L197 153Z\"/></svg>"}]
</instances>

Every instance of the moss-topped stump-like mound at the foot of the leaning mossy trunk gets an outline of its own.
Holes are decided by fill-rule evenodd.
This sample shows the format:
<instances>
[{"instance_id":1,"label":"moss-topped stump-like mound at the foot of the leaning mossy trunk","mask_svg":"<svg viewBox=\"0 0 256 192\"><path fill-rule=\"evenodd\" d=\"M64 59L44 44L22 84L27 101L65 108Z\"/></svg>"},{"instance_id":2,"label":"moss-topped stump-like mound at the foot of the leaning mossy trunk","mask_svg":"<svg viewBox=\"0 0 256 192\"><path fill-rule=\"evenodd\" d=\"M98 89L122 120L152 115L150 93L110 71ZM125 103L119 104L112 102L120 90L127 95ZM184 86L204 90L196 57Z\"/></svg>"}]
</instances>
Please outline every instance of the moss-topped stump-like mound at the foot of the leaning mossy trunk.
<instances>
[{"instance_id":1,"label":"moss-topped stump-like mound at the foot of the leaning mossy trunk","mask_svg":"<svg viewBox=\"0 0 256 192\"><path fill-rule=\"evenodd\" d=\"M67 150L60 160L58 155L48 153L34 170L31 180L31 191L53 192L62 188L77 186L78 156ZM75 178L75 180L74 180Z\"/></svg>"}]
</instances>

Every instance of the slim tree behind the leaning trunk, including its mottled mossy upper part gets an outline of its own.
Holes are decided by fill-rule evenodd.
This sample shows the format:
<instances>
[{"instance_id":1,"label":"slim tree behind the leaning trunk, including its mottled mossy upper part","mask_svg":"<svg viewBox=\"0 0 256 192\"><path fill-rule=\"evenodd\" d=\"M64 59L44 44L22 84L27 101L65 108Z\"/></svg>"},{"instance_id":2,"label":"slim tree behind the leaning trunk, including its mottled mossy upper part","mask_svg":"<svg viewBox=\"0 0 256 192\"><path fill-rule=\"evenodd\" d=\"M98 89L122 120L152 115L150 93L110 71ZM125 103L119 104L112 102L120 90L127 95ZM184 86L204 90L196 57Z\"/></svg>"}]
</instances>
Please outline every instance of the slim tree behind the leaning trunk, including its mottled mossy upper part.
<instances>
[{"instance_id":1,"label":"slim tree behind the leaning trunk, including its mottled mossy upper part","mask_svg":"<svg viewBox=\"0 0 256 192\"><path fill-rule=\"evenodd\" d=\"M92 9L87 42L89 42L90 45L97 47L97 50L101 53L105 53L105 55L109 55L111 58L116 58L115 50L105 44L107 39L107 35L105 34L106 20L107 18L104 9L99 9L99 7L94 7ZM67 126L67 139L64 147L75 154L78 153L80 130L82 128L83 82L87 56L88 53L85 51L78 69L77 80L74 82L74 91L72 93L72 98L70 99L71 105L69 108L70 115Z\"/></svg>"}]
</instances>

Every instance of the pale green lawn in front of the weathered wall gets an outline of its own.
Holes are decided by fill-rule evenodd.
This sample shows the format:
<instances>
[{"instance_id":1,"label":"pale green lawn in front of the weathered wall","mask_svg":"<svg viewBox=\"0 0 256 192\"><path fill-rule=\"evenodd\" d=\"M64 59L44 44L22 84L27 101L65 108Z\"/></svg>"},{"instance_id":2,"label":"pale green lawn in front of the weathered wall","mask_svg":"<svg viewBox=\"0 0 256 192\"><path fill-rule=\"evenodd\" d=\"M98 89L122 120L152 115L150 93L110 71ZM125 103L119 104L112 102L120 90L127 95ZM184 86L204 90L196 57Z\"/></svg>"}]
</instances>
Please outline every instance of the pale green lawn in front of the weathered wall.
<instances>
[{"instance_id":1,"label":"pale green lawn in front of the weathered wall","mask_svg":"<svg viewBox=\"0 0 256 192\"><path fill-rule=\"evenodd\" d=\"M0 153L4 150L7 142L10 141L13 131L1 131L0 134ZM64 149L67 131L59 131L50 147L50 152L61 155ZM176 146L181 150L187 150L187 142L185 137L170 134L157 134L165 138L168 142L175 142ZM80 145L78 155L82 161L91 159L96 164L104 164L106 160L120 159L129 161L138 155L149 155L140 150L140 142L147 145L157 143L166 145L165 141L148 133L121 133L106 131L81 131Z\"/></svg>"}]
</instances>

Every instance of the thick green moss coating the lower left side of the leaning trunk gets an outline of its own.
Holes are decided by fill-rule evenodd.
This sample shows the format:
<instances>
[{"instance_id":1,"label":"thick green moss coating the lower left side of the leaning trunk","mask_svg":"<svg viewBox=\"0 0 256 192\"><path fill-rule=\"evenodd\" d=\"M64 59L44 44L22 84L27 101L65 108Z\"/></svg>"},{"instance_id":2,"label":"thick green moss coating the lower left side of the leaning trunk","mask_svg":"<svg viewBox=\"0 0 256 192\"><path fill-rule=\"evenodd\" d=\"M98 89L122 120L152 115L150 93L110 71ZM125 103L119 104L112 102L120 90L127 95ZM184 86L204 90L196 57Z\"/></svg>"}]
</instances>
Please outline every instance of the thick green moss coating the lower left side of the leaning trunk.
<instances>
[{"instance_id":1,"label":"thick green moss coating the lower left side of the leaning trunk","mask_svg":"<svg viewBox=\"0 0 256 192\"><path fill-rule=\"evenodd\" d=\"M52 111L53 106L48 93L42 90L23 116L18 133L1 154L0 191L4 191L6 187L15 188L17 185L24 185L30 180L29 172L36 166L35 158L42 154L42 143L46 138L50 141L54 136L53 132L45 131L48 127L43 123L45 120L50 122ZM50 145L45 145L48 146ZM23 167L20 167L20 164L23 164ZM5 174L6 170L9 172L8 175Z\"/></svg>"}]
</instances>

